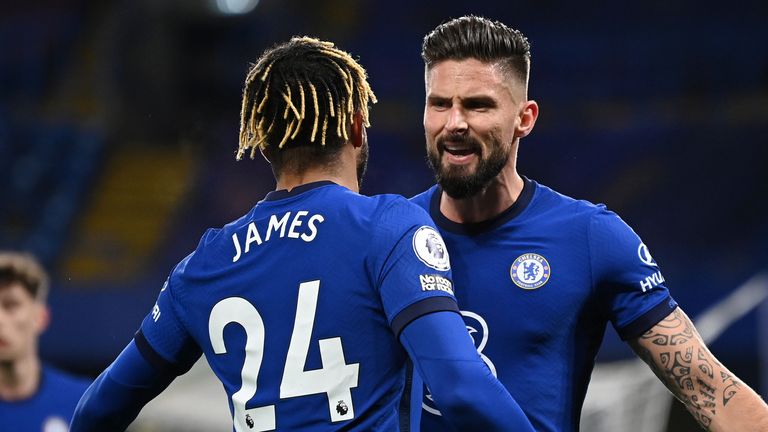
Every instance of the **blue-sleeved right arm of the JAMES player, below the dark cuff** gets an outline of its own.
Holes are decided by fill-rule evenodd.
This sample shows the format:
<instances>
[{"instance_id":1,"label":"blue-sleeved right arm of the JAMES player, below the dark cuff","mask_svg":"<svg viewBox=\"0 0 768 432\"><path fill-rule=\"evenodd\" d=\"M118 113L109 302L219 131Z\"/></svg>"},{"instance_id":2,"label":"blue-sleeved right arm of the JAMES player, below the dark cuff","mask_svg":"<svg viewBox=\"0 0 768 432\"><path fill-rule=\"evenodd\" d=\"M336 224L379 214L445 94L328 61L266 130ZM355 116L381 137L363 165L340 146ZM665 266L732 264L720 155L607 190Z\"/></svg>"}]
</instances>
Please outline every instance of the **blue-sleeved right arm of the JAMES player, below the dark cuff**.
<instances>
[{"instance_id":1,"label":"blue-sleeved right arm of the JAMES player, below the dark cuff","mask_svg":"<svg viewBox=\"0 0 768 432\"><path fill-rule=\"evenodd\" d=\"M480 359L459 314L441 311L423 315L403 329L400 342L456 430L534 430L517 402Z\"/></svg>"}]
</instances>

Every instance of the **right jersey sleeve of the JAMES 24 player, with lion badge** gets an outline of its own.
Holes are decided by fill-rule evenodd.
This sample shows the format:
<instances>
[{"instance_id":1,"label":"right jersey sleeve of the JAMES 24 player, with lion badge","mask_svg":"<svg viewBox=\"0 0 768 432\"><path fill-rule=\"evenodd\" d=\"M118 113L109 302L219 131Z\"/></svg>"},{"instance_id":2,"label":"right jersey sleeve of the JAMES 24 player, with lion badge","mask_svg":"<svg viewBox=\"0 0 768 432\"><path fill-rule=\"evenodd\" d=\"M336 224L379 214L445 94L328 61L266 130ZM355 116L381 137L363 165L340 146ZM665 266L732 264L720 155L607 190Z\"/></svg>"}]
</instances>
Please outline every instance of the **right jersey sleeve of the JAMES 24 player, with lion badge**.
<instances>
[{"instance_id":1,"label":"right jersey sleeve of the JAMES 24 player, with lion badge","mask_svg":"<svg viewBox=\"0 0 768 432\"><path fill-rule=\"evenodd\" d=\"M458 313L448 250L423 209L394 201L379 217L372 247L376 286L396 336L425 314Z\"/></svg>"}]
</instances>

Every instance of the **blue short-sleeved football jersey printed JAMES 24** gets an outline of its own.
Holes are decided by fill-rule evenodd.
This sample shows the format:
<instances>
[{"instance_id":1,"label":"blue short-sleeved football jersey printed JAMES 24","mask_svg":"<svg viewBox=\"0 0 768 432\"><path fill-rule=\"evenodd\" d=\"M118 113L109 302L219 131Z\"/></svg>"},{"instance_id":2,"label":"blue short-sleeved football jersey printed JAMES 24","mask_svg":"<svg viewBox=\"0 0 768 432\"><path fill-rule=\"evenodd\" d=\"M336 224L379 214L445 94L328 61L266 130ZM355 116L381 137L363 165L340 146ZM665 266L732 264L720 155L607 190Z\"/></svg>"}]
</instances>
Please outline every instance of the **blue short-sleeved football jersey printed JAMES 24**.
<instances>
[{"instance_id":1,"label":"blue short-sleeved football jersey printed JAMES 24","mask_svg":"<svg viewBox=\"0 0 768 432\"><path fill-rule=\"evenodd\" d=\"M200 354L236 431L398 430L398 334L456 310L448 252L427 213L331 182L270 192L208 230L135 338L183 371Z\"/></svg>"}]
</instances>

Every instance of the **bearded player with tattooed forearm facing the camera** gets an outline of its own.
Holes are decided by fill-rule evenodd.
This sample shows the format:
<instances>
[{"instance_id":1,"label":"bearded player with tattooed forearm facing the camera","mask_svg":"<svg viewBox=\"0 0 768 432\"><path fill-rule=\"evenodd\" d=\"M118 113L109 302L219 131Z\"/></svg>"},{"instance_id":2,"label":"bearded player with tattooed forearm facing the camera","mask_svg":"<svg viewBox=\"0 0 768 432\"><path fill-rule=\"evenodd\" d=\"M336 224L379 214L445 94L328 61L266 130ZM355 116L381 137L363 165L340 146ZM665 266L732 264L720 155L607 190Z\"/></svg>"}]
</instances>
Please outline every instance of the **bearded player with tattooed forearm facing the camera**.
<instances>
[{"instance_id":1,"label":"bearded player with tattooed forearm facing the camera","mask_svg":"<svg viewBox=\"0 0 768 432\"><path fill-rule=\"evenodd\" d=\"M412 201L451 252L482 357L536 430L578 430L610 321L703 428L768 431L766 404L707 349L637 234L605 206L518 173L520 139L539 114L527 39L465 16L430 32L422 57L437 185ZM443 430L428 397L424 410L422 430Z\"/></svg>"}]
</instances>

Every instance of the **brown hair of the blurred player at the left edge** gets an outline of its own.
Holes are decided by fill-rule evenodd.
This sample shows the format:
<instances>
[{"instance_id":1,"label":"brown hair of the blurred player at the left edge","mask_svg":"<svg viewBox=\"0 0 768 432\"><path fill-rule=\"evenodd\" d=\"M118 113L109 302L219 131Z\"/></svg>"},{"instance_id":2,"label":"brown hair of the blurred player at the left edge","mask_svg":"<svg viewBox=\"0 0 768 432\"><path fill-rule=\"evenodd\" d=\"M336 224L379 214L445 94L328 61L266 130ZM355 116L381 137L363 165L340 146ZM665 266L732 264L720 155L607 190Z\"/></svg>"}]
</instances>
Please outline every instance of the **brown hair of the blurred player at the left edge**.
<instances>
[{"instance_id":1,"label":"brown hair of the blurred player at the left edge","mask_svg":"<svg viewBox=\"0 0 768 432\"><path fill-rule=\"evenodd\" d=\"M48 297L48 275L30 254L0 251L0 289L20 283L37 301Z\"/></svg>"}]
</instances>

